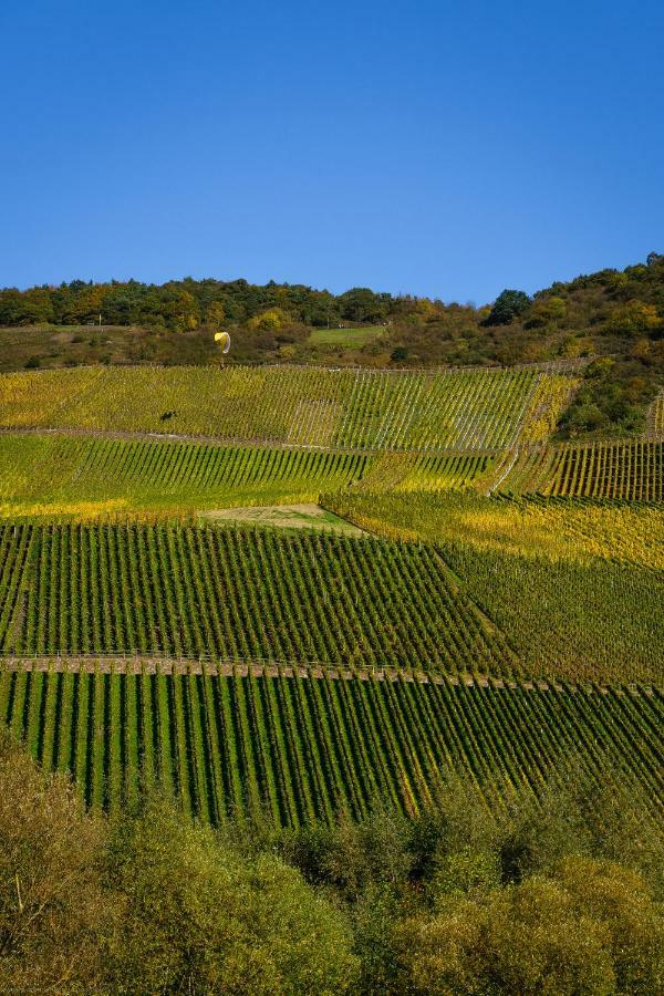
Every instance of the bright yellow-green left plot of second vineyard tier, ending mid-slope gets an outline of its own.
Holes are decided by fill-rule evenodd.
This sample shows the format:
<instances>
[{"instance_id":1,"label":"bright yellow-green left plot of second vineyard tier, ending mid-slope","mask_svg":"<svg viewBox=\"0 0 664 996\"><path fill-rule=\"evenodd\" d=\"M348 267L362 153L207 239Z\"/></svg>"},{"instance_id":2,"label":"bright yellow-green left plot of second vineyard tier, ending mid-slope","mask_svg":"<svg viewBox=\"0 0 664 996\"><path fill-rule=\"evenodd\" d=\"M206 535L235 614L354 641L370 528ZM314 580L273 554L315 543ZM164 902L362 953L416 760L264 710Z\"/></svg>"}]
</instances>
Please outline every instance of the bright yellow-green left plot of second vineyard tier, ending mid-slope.
<instances>
[{"instance_id":1,"label":"bright yellow-green left plot of second vineyard tier, ending mid-slope","mask_svg":"<svg viewBox=\"0 0 664 996\"><path fill-rule=\"evenodd\" d=\"M0 435L0 515L100 516L315 501L364 474L367 456L290 448Z\"/></svg>"}]
</instances>

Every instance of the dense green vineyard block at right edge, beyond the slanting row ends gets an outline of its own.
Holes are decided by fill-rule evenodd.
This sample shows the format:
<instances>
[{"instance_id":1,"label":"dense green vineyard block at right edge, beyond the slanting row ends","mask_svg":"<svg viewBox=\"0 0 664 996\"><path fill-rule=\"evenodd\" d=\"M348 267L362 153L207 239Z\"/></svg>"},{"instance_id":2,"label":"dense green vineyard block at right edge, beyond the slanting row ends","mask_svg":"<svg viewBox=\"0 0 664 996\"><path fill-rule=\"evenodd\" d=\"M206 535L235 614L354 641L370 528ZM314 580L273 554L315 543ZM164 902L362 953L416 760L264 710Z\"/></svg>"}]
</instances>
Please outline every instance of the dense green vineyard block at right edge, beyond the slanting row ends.
<instances>
[{"instance_id":1,"label":"dense green vineyard block at right edge, beyond the slanting row ends","mask_svg":"<svg viewBox=\"0 0 664 996\"><path fill-rule=\"evenodd\" d=\"M551 561L470 546L443 556L505 632L527 673L664 682L664 574L611 561Z\"/></svg>"}]
</instances>

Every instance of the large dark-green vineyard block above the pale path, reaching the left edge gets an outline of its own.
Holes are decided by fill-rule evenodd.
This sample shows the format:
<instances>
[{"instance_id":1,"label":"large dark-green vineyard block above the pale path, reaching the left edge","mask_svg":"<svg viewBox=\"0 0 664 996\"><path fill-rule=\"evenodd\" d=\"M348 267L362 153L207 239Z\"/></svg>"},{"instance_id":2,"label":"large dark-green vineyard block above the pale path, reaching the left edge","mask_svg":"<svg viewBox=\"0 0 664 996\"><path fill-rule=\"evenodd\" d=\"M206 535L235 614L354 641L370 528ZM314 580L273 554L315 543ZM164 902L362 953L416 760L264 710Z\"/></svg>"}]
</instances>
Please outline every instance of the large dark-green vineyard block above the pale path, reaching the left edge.
<instances>
[{"instance_id":1,"label":"large dark-green vineyard block above the pale path, reaching the left edge","mask_svg":"<svg viewBox=\"0 0 664 996\"><path fill-rule=\"evenodd\" d=\"M6 653L518 666L433 548L369 538L4 526L0 605Z\"/></svg>"}]
</instances>

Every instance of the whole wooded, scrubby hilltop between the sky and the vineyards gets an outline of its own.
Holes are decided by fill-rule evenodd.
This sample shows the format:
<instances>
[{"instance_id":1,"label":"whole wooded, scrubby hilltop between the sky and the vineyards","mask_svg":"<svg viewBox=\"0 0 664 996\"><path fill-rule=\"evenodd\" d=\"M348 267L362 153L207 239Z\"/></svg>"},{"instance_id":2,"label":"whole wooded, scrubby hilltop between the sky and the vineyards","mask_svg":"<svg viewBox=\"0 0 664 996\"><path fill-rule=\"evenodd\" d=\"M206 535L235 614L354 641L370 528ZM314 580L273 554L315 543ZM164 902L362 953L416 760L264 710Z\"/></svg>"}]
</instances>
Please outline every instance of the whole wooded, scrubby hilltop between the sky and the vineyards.
<instances>
[{"instance_id":1,"label":"whole wooded, scrubby hilltop between the sky and the vineyards","mask_svg":"<svg viewBox=\"0 0 664 996\"><path fill-rule=\"evenodd\" d=\"M559 436L639 434L664 388L664 256L556 282L531 298L508 290L483 307L246 280L6 289L0 370L215 364L210 333L219 328L231 334L229 362L240 364L512 366L600 357L587 365Z\"/></svg>"}]
</instances>

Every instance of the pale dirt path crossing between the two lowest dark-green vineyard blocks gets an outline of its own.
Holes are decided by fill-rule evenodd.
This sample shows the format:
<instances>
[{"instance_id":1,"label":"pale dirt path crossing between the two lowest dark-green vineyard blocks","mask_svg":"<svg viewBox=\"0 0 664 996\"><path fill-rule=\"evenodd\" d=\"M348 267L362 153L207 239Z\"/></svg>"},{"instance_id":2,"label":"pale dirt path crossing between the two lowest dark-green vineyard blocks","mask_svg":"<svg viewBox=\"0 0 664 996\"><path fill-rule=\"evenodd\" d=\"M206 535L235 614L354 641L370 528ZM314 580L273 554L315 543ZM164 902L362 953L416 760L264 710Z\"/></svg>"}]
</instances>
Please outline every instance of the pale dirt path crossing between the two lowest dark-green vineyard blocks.
<instances>
[{"instance_id":1,"label":"pale dirt path crossing between the two lowest dark-green vineyard blocks","mask_svg":"<svg viewBox=\"0 0 664 996\"><path fill-rule=\"evenodd\" d=\"M427 674L424 671L405 671L398 667L346 668L334 664L311 662L308 664L284 664L279 661L212 661L197 657L159 657L129 655L72 655L72 656L4 656L0 657L0 674L3 672L52 672L63 674L206 674L232 677L279 677L324 678L333 681L361 682L417 682L428 685L466 685L469 688L525 688L538 692L589 692L602 695L613 692L618 695L652 695L649 687L603 687L579 686L538 679L523 681L499 678L480 674Z\"/></svg>"}]
</instances>

